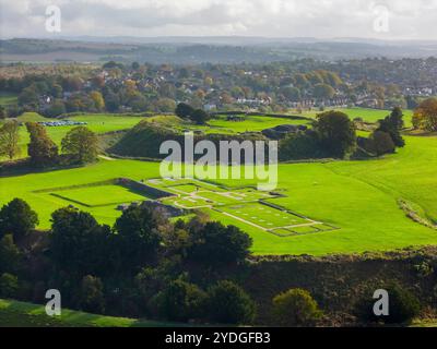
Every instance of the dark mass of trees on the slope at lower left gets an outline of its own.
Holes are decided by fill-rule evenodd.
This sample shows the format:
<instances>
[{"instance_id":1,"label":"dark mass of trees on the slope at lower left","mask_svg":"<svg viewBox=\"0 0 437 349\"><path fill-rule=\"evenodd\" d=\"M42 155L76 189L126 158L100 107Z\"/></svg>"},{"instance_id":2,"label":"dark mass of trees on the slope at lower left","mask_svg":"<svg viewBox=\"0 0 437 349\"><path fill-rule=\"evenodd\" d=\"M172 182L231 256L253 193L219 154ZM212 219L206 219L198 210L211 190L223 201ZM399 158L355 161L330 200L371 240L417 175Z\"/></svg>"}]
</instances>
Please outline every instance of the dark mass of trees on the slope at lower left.
<instances>
[{"instance_id":1,"label":"dark mass of trees on the slope at lower left","mask_svg":"<svg viewBox=\"0 0 437 349\"><path fill-rule=\"evenodd\" d=\"M3 281L9 281L0 296L22 293L9 293L32 267L23 265L17 246L25 244L37 224L36 213L20 198L0 209L0 261L8 260L0 265L0 275L7 273ZM126 296L130 304L138 304L133 314L172 321L249 323L256 314L255 302L237 284L190 280L196 278L190 275L192 265L209 274L245 262L252 241L236 227L202 215L172 224L161 209L140 205L126 209L110 228L88 213L66 207L52 214L45 234L47 251L35 249L39 254L27 257L46 264L51 277L47 269L37 275L31 294L44 284L60 289L68 306L98 313L106 305L111 305L109 313L122 310Z\"/></svg>"}]
</instances>

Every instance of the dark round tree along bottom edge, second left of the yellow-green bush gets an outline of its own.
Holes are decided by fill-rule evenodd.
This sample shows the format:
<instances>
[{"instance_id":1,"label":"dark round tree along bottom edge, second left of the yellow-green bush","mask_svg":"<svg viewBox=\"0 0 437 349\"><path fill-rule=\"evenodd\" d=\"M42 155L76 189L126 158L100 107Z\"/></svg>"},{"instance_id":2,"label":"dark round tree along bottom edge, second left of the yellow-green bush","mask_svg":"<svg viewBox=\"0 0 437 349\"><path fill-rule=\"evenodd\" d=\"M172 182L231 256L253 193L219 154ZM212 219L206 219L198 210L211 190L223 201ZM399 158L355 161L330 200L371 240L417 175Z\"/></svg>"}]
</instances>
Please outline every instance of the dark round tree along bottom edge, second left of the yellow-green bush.
<instances>
[{"instance_id":1,"label":"dark round tree along bottom edge, second left of the yellow-green bush","mask_svg":"<svg viewBox=\"0 0 437 349\"><path fill-rule=\"evenodd\" d=\"M156 296L154 303L161 316L187 322L203 317L206 293L198 286L177 279Z\"/></svg>"}]
</instances>

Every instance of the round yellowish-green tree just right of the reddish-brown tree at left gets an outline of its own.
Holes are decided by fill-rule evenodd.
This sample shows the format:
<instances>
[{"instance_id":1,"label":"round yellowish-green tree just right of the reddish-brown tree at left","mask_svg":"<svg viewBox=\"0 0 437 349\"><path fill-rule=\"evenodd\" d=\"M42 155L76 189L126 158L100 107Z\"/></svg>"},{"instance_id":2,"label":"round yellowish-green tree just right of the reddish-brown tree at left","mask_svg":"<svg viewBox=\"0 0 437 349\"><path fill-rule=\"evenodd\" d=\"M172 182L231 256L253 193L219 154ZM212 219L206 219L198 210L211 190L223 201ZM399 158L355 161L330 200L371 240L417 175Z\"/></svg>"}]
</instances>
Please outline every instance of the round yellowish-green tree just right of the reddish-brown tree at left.
<instances>
[{"instance_id":1,"label":"round yellowish-green tree just right of the reddish-brown tree at left","mask_svg":"<svg viewBox=\"0 0 437 349\"><path fill-rule=\"evenodd\" d=\"M62 152L80 164L92 163L97 157L97 136L86 127L76 127L63 137Z\"/></svg>"}]
</instances>

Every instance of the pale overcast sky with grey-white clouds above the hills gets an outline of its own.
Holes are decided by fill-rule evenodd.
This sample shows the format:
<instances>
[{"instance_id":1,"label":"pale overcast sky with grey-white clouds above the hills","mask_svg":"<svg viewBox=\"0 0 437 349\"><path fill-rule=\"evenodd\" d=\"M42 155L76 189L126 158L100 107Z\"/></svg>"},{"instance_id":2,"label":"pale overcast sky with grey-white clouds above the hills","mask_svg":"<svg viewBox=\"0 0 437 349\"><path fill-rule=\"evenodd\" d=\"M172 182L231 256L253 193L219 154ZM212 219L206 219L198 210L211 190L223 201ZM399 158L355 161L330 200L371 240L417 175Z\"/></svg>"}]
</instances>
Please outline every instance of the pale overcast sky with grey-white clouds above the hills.
<instances>
[{"instance_id":1,"label":"pale overcast sky with grey-white clouds above the hills","mask_svg":"<svg viewBox=\"0 0 437 349\"><path fill-rule=\"evenodd\" d=\"M61 33L46 31L46 8ZM437 39L437 0L0 0L0 35Z\"/></svg>"}]
</instances>

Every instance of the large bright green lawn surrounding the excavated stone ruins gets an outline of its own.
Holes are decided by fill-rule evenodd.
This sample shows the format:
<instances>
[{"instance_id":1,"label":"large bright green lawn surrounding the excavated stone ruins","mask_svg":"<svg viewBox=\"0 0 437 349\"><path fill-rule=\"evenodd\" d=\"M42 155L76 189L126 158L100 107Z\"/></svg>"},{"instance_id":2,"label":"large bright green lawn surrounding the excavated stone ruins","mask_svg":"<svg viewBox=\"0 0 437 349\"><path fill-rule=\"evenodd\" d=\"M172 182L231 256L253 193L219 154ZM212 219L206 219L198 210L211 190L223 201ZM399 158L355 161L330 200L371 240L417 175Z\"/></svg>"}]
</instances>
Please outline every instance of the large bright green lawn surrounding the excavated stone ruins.
<instances>
[{"instance_id":1,"label":"large bright green lawn surrounding the excavated stone ruins","mask_svg":"<svg viewBox=\"0 0 437 349\"><path fill-rule=\"evenodd\" d=\"M406 136L398 154L366 161L288 164L279 167L279 189L272 198L292 212L339 229L277 237L222 213L208 209L213 219L234 224L253 238L257 254L359 253L437 243L437 231L414 222L398 200L414 203L428 218L437 219L437 137ZM51 212L64 200L34 191L87 184L118 177L157 178L158 164L135 160L101 160L83 168L0 178L0 204L13 197L26 200L49 227ZM255 184L252 180L221 181L227 186ZM168 181L175 184L174 181ZM185 184L189 183L189 180ZM236 186L238 185L238 186ZM192 186L185 188L187 191ZM193 206L197 206L193 203ZM101 222L114 224L115 206L84 207Z\"/></svg>"}]
</instances>

